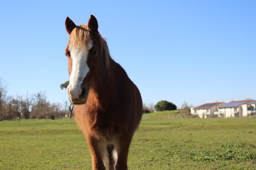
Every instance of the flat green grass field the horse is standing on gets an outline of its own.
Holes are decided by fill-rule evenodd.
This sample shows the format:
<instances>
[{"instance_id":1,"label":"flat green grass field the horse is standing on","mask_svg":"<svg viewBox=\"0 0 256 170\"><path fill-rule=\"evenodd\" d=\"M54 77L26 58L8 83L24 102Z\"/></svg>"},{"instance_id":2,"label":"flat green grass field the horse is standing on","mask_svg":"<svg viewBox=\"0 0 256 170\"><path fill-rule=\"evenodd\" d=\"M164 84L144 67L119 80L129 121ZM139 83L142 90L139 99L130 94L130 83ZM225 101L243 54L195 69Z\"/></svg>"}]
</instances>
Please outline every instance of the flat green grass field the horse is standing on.
<instances>
[{"instance_id":1,"label":"flat green grass field the horse is standing on","mask_svg":"<svg viewBox=\"0 0 256 170\"><path fill-rule=\"evenodd\" d=\"M128 167L255 170L256 118L142 119L130 146ZM90 170L92 166L86 140L74 120L22 120L0 122L0 169Z\"/></svg>"}]
</instances>

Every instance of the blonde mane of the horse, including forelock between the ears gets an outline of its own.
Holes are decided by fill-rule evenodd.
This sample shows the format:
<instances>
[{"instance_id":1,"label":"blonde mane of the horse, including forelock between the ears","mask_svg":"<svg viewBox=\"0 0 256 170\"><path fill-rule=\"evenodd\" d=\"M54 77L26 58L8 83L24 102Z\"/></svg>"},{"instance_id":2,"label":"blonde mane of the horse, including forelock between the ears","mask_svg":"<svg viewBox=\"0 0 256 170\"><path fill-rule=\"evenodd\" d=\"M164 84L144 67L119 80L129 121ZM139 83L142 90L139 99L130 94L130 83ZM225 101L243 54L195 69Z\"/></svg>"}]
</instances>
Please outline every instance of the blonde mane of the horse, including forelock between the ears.
<instances>
[{"instance_id":1,"label":"blonde mane of the horse, including forelock between the ears","mask_svg":"<svg viewBox=\"0 0 256 170\"><path fill-rule=\"evenodd\" d=\"M70 43L73 43L75 46L79 46L82 48L82 50L86 50L88 48L87 42L91 41L90 38L91 30L87 25L79 25L76 28L73 29L73 31L70 34ZM100 46L100 52L101 52L101 59L102 62L105 64L106 71L110 70L110 54L107 42L105 39L100 35L100 33L97 31L97 41Z\"/></svg>"}]
</instances>

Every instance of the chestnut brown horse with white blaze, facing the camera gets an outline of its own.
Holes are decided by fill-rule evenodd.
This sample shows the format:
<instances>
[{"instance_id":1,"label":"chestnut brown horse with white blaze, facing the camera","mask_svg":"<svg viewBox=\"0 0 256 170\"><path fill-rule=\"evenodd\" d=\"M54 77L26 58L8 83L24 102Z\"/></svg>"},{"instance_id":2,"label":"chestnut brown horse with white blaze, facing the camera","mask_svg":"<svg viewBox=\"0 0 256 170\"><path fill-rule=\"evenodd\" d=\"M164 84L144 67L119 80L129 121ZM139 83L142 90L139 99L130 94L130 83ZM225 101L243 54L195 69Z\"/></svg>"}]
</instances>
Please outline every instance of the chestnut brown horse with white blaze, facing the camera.
<instances>
[{"instance_id":1,"label":"chestnut brown horse with white blaze, facing the camera","mask_svg":"<svg viewBox=\"0 0 256 170\"><path fill-rule=\"evenodd\" d=\"M86 136L94 170L127 170L133 133L142 116L138 88L109 54L91 15L87 25L65 21L70 40L67 93L75 119Z\"/></svg>"}]
</instances>

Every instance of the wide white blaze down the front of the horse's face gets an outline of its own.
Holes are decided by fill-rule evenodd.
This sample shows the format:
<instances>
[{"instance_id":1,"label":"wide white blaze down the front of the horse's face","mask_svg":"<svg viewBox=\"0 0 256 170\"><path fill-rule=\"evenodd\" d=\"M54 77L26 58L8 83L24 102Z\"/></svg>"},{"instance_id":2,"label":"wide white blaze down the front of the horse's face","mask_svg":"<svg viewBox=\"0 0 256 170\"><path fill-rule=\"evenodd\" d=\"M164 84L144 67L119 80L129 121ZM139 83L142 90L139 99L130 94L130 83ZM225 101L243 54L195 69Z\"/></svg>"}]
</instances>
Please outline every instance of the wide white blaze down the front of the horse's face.
<instances>
[{"instance_id":1,"label":"wide white blaze down the front of the horse's face","mask_svg":"<svg viewBox=\"0 0 256 170\"><path fill-rule=\"evenodd\" d=\"M81 47L76 47L70 43L68 50L72 58L72 72L69 77L69 85L67 93L71 99L79 99L82 93L81 85L84 78L89 72L89 67L86 63L88 52L92 47L92 42L87 43L87 47L83 50Z\"/></svg>"}]
</instances>

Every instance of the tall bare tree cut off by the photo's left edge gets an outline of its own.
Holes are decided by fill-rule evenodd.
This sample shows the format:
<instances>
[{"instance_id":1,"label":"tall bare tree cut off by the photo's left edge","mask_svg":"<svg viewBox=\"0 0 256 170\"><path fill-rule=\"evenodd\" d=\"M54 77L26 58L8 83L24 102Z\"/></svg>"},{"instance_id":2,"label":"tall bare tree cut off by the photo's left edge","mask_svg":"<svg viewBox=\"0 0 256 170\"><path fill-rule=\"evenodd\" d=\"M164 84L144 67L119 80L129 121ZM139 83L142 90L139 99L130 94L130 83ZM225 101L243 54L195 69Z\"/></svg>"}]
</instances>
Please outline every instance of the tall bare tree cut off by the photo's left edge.
<instances>
[{"instance_id":1,"label":"tall bare tree cut off by the photo's left edge","mask_svg":"<svg viewBox=\"0 0 256 170\"><path fill-rule=\"evenodd\" d=\"M6 104L7 85L6 82L0 78L0 119L3 122L3 114Z\"/></svg>"}]
</instances>

